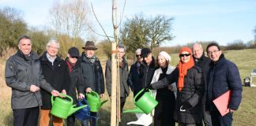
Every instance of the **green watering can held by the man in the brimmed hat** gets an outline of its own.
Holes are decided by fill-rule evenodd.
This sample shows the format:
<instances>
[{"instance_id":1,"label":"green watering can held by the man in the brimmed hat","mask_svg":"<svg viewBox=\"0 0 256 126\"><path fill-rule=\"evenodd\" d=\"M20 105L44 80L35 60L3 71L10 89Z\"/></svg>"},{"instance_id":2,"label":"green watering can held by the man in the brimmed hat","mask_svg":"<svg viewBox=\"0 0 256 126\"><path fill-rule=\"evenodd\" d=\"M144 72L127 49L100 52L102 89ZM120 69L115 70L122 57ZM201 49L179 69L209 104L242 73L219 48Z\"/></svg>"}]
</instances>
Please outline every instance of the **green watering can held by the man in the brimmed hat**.
<instances>
[{"instance_id":1,"label":"green watering can held by the man in the brimmed hat","mask_svg":"<svg viewBox=\"0 0 256 126\"><path fill-rule=\"evenodd\" d=\"M96 91L91 91L91 93L86 93L86 98L89 106L91 107L91 112L98 112L100 106L102 106L107 100L100 102L100 95Z\"/></svg>"}]
</instances>

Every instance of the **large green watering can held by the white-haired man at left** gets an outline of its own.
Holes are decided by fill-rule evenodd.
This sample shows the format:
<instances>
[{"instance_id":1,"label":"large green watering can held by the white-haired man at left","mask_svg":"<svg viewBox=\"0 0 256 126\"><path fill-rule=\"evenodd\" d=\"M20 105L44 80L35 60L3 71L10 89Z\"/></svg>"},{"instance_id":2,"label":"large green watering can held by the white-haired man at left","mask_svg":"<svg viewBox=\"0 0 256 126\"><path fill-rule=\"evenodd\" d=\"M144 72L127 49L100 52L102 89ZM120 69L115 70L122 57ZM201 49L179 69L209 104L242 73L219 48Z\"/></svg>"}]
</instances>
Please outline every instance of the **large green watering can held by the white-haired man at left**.
<instances>
[{"instance_id":1,"label":"large green watering can held by the white-haired man at left","mask_svg":"<svg viewBox=\"0 0 256 126\"><path fill-rule=\"evenodd\" d=\"M65 98L56 97L54 100L54 96L51 95L51 114L55 117L60 117L62 119L66 119L69 117L72 113L75 113L77 110L82 109L85 106L79 106L75 108L76 105L73 104L73 98L71 98L69 95L60 94L66 98L69 98L69 100L66 100Z\"/></svg>"}]
</instances>

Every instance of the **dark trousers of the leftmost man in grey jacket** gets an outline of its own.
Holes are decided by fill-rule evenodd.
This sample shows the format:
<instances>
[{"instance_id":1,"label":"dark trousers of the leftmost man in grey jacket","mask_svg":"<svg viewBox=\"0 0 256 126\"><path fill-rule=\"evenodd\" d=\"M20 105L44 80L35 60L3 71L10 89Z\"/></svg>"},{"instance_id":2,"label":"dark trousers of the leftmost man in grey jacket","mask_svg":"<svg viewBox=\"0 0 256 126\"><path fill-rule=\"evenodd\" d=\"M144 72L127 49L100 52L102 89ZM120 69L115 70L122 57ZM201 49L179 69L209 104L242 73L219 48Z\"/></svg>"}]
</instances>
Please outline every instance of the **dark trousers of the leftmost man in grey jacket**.
<instances>
[{"instance_id":1,"label":"dark trousers of the leftmost man in grey jacket","mask_svg":"<svg viewBox=\"0 0 256 126\"><path fill-rule=\"evenodd\" d=\"M27 109L13 109L13 126L36 126L39 114L39 106Z\"/></svg>"}]
</instances>

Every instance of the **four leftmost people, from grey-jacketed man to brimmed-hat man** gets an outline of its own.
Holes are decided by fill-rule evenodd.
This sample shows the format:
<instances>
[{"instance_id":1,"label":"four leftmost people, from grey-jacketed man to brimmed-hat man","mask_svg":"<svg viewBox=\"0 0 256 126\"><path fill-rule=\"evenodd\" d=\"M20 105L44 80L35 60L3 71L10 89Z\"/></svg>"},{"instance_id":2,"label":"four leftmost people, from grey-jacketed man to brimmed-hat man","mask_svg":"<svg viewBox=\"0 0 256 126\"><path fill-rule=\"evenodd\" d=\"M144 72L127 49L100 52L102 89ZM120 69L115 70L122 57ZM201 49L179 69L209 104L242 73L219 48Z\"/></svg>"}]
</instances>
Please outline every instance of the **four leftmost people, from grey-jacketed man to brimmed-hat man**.
<instances>
[{"instance_id":1,"label":"four leftmost people, from grey-jacketed man to brimmed-hat man","mask_svg":"<svg viewBox=\"0 0 256 126\"><path fill-rule=\"evenodd\" d=\"M6 61L14 126L63 126L62 118L51 115L51 95L63 97L60 92L70 95L73 104L77 103L77 96L86 98L85 93L91 91L100 94L100 98L104 96L104 74L95 56L95 44L87 41L81 55L77 47L71 47L65 60L58 56L59 48L57 40L50 40L40 57L32 51L31 38L24 35L18 40L17 53ZM81 125L97 125L98 113L90 114L94 118L82 120ZM67 117L66 124L75 125L73 114Z\"/></svg>"}]
</instances>

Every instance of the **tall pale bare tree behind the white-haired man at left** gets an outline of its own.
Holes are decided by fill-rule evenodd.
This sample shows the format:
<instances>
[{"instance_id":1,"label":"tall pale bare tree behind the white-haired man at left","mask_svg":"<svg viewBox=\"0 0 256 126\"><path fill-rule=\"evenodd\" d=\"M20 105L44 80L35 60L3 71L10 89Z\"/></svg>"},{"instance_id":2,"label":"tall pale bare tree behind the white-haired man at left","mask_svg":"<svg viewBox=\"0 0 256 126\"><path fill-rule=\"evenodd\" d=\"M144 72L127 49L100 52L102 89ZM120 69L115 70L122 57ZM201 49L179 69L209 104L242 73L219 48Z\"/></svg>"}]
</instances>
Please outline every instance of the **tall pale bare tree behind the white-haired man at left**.
<instances>
[{"instance_id":1,"label":"tall pale bare tree behind the white-haired man at left","mask_svg":"<svg viewBox=\"0 0 256 126\"><path fill-rule=\"evenodd\" d=\"M89 7L85 0L55 1L50 10L51 35L58 39L61 50L66 54L71 46L81 47L89 32Z\"/></svg>"}]
</instances>

